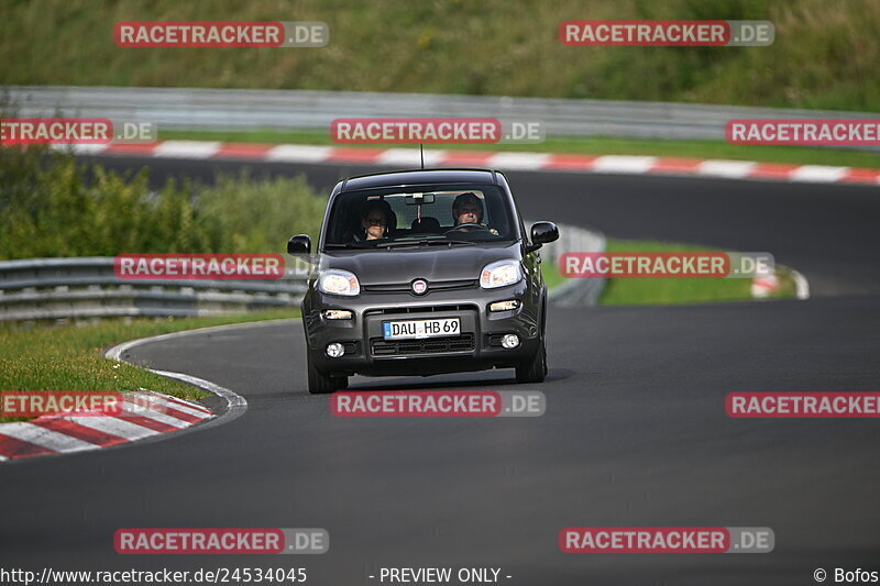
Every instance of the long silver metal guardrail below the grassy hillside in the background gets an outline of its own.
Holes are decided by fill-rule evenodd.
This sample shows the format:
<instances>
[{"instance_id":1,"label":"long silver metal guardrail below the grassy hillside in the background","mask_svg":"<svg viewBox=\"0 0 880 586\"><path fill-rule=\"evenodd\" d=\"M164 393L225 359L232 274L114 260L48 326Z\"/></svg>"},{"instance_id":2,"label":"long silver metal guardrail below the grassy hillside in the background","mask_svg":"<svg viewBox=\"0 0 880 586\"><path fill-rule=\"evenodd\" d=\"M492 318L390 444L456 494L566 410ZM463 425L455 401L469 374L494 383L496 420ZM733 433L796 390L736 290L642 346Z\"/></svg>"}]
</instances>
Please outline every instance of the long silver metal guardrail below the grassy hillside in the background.
<instances>
[{"instance_id":1,"label":"long silver metal guardrail below the grassy hillside in the background","mask_svg":"<svg viewBox=\"0 0 880 586\"><path fill-rule=\"evenodd\" d=\"M172 130L327 130L343 117L541 121L548 135L724 140L734 118L880 119L878 113L354 91L10 86L23 117L79 115ZM873 147L868 147L873 148Z\"/></svg>"}]
</instances>

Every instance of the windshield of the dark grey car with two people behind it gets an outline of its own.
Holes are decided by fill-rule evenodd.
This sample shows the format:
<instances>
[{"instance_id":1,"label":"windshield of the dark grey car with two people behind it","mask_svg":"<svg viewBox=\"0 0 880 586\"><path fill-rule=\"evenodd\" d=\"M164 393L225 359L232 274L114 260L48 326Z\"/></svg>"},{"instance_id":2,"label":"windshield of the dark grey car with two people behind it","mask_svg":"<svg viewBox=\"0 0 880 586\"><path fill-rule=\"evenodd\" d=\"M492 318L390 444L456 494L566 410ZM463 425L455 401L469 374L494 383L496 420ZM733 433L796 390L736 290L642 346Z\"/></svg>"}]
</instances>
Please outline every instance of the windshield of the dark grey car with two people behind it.
<instances>
[{"instance_id":1,"label":"windshield of the dark grey car with two people behind it","mask_svg":"<svg viewBox=\"0 0 880 586\"><path fill-rule=\"evenodd\" d=\"M326 226L328 247L469 245L514 239L497 186L413 186L340 194Z\"/></svg>"}]
</instances>

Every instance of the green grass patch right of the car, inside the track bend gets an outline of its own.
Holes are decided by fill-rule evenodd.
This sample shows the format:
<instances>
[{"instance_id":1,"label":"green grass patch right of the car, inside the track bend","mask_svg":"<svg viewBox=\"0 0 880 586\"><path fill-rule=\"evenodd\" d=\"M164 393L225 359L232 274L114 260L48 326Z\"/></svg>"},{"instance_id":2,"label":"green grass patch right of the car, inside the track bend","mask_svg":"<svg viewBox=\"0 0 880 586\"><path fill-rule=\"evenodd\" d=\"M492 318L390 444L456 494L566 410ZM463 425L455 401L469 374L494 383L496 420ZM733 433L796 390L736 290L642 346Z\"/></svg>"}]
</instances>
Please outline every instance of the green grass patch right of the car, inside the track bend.
<instances>
[{"instance_id":1,"label":"green grass patch right of the car, inside the track bend","mask_svg":"<svg viewBox=\"0 0 880 586\"><path fill-rule=\"evenodd\" d=\"M666 242L608 239L607 252L725 252L718 248ZM779 270L782 287L773 298L794 297L794 281ZM604 306L682 305L751 299L751 279L608 279L598 302Z\"/></svg>"}]
</instances>

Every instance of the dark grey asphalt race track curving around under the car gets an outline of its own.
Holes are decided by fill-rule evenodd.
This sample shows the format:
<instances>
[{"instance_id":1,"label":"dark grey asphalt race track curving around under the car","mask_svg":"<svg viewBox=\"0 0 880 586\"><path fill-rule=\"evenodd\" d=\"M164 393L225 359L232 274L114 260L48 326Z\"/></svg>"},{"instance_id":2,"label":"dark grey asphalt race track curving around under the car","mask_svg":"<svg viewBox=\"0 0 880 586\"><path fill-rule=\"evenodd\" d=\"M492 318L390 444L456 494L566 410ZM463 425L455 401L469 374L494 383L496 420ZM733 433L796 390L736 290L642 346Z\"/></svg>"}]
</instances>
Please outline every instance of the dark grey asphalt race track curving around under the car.
<instances>
[{"instance_id":1,"label":"dark grey asphalt race track curving around under the car","mask_svg":"<svg viewBox=\"0 0 880 586\"><path fill-rule=\"evenodd\" d=\"M209 180L233 162L106 158ZM362 167L260 165L327 189ZM539 388L524 419L350 419L305 390L298 322L178 338L129 360L246 397L176 439L0 467L0 567L494 566L505 584L815 584L880 571L880 425L735 420L733 390L880 390L880 190L510 173L522 212L613 236L769 251L809 301L553 309L550 375L353 379L354 388ZM769 554L563 554L570 526L770 527ZM120 556L121 527L321 527L320 556ZM831 583L833 577L827 582Z\"/></svg>"}]
</instances>

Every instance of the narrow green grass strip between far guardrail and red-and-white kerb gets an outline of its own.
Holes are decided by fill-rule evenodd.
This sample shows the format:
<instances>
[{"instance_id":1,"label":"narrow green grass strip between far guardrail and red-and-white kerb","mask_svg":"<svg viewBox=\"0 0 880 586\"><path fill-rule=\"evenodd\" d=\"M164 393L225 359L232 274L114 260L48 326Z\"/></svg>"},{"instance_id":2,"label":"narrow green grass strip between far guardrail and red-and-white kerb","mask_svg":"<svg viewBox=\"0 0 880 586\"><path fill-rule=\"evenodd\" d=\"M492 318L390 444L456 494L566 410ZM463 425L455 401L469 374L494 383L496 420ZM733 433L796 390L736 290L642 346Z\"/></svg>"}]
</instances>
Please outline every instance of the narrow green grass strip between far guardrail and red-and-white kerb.
<instances>
[{"instance_id":1,"label":"narrow green grass strip between far guardrail and red-and-white kerb","mask_svg":"<svg viewBox=\"0 0 880 586\"><path fill-rule=\"evenodd\" d=\"M232 143L333 145L329 132L160 131L163 141L221 141ZM356 147L350 145L352 147ZM371 145L367 148L418 145ZM582 155L645 155L681 158L729 158L792 165L835 165L880 168L880 153L810 146L734 145L722 141L659 141L610 137L549 137L536 144L443 145L443 150L565 153Z\"/></svg>"}]
</instances>

